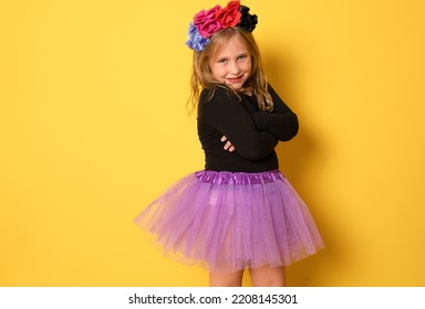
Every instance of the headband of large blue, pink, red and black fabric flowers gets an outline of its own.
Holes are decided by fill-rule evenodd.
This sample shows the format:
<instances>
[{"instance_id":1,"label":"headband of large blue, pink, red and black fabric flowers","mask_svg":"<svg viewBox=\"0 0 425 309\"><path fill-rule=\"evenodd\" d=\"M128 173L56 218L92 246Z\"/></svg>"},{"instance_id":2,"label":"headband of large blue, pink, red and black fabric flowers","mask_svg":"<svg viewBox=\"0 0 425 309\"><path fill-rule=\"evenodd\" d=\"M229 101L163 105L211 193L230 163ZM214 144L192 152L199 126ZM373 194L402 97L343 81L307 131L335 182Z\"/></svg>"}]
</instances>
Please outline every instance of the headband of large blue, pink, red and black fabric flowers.
<instances>
[{"instance_id":1,"label":"headband of large blue, pink, red and black fabric flowers","mask_svg":"<svg viewBox=\"0 0 425 309\"><path fill-rule=\"evenodd\" d=\"M256 29L257 15L251 15L248 12L249 8L241 6L239 0L230 1L226 8L217 4L209 10L199 11L189 24L186 45L200 52L214 33L226 28L239 26L252 32Z\"/></svg>"}]
</instances>

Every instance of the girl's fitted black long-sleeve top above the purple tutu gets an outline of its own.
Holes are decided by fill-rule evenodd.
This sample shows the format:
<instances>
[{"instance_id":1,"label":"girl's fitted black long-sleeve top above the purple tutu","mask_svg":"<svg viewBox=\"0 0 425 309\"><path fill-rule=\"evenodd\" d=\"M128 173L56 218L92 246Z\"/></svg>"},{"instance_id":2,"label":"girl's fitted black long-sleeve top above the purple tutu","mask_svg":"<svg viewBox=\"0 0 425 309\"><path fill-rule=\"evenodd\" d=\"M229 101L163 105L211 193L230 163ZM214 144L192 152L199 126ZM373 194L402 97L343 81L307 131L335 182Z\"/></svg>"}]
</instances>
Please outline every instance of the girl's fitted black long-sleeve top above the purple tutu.
<instances>
[{"instance_id":1,"label":"girl's fitted black long-sleeve top above the purple tutu","mask_svg":"<svg viewBox=\"0 0 425 309\"><path fill-rule=\"evenodd\" d=\"M231 172L262 172L279 168L274 147L298 132L297 115L269 86L273 111L260 111L253 96L241 94L241 102L226 88L214 96L204 89L198 105L198 136L205 151L205 169ZM236 148L224 149L226 136Z\"/></svg>"}]
</instances>

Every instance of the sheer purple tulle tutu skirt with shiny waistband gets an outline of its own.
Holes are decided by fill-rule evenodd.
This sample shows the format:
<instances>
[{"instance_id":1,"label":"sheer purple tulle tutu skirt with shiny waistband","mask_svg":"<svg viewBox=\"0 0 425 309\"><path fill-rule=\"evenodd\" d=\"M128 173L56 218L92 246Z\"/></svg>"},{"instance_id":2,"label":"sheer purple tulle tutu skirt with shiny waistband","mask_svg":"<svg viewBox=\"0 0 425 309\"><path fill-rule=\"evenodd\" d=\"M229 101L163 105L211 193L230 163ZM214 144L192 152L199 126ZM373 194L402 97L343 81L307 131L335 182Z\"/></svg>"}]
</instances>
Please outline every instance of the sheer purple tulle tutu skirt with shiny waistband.
<instances>
[{"instance_id":1,"label":"sheer purple tulle tutu skirt with shiny waistband","mask_svg":"<svg viewBox=\"0 0 425 309\"><path fill-rule=\"evenodd\" d=\"M288 266L323 247L308 207L277 170L191 173L134 222L170 257L212 273Z\"/></svg>"}]
</instances>

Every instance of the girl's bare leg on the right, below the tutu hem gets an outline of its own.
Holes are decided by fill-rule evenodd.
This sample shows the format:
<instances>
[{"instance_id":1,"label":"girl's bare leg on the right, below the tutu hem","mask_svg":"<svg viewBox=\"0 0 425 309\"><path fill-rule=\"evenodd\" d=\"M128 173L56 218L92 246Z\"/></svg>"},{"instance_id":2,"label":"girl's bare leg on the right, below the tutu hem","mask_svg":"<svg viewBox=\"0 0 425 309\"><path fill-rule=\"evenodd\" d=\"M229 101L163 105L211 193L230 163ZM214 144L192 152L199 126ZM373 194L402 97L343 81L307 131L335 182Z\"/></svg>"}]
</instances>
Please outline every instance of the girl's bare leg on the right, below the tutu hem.
<instances>
[{"instance_id":1,"label":"girl's bare leg on the right, below the tutu hem","mask_svg":"<svg viewBox=\"0 0 425 309\"><path fill-rule=\"evenodd\" d=\"M284 287L284 268L269 265L249 269L251 280L256 287Z\"/></svg>"}]
</instances>

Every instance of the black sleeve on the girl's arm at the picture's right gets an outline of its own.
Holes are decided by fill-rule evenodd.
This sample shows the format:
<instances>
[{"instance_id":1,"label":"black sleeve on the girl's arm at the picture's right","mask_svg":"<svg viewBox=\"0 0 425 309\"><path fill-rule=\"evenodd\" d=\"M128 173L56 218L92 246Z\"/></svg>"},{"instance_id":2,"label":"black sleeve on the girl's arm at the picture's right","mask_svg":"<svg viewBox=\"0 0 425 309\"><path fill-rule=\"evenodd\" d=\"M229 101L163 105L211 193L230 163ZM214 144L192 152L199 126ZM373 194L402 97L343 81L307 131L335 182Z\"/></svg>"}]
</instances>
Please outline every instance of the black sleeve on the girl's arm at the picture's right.
<instances>
[{"instance_id":1,"label":"black sleeve on the girl's arm at the picture's right","mask_svg":"<svg viewBox=\"0 0 425 309\"><path fill-rule=\"evenodd\" d=\"M260 130L273 134L281 141L290 140L298 134L298 117L271 86L269 93L273 99L273 111L253 113L252 117Z\"/></svg>"}]
</instances>

